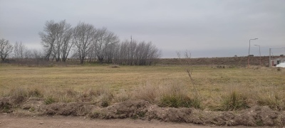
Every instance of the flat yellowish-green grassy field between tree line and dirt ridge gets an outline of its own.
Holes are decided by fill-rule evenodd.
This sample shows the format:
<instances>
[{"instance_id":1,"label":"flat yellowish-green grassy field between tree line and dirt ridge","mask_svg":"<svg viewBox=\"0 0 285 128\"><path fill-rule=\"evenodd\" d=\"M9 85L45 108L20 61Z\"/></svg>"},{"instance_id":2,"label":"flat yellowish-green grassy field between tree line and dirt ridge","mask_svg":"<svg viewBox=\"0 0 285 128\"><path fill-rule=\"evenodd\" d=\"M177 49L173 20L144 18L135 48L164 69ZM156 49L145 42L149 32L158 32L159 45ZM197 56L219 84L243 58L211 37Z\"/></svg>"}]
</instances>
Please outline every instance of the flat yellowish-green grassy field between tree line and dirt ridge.
<instances>
[{"instance_id":1,"label":"flat yellowish-green grassy field between tree line and dirt ridge","mask_svg":"<svg viewBox=\"0 0 285 128\"><path fill-rule=\"evenodd\" d=\"M108 93L108 99L113 103L128 99L155 102L160 98L157 93L176 91L173 93L198 98L199 108L206 110L235 110L231 105L236 104L247 104L242 107L271 105L276 109L285 108L284 68L192 66L195 86L185 68L179 65L111 68L110 65L26 67L0 64L0 95L6 97L24 93L33 97L40 94L44 99L52 97L52 102L76 102L76 95L88 97L84 94L91 95L94 90L100 90ZM90 98L96 99L97 96Z\"/></svg>"}]
</instances>

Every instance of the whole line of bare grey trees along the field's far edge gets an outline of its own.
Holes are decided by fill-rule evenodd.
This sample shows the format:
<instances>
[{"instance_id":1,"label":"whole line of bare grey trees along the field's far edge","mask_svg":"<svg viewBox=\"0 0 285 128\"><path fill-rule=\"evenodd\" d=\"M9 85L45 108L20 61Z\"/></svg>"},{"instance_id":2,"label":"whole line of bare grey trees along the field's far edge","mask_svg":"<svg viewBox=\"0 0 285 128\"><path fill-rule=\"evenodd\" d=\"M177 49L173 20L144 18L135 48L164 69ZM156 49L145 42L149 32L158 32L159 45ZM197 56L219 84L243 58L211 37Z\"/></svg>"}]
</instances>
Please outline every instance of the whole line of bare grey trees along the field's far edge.
<instances>
[{"instance_id":1,"label":"whole line of bare grey trees along the field's far edge","mask_svg":"<svg viewBox=\"0 0 285 128\"><path fill-rule=\"evenodd\" d=\"M28 50L22 43L12 46L0 40L1 60L12 53L14 58L43 58L48 61L66 62L75 58L83 63L115 63L120 65L151 65L160 57L160 50L151 42L125 40L107 28L95 28L90 23L80 22L72 27L66 20L46 21L38 33L43 50ZM3 57L2 57L3 56Z\"/></svg>"}]
</instances>

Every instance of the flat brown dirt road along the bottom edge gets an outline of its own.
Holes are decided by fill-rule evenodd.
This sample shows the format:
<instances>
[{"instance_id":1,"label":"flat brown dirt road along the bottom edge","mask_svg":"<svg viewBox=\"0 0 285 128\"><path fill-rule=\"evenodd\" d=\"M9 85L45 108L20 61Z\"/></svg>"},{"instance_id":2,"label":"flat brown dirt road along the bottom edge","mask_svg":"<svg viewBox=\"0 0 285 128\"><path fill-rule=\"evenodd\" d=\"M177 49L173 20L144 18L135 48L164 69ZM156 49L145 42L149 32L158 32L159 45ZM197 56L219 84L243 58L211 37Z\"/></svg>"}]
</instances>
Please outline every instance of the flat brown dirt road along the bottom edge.
<instances>
[{"instance_id":1,"label":"flat brown dirt road along the bottom edge","mask_svg":"<svg viewBox=\"0 0 285 128\"><path fill-rule=\"evenodd\" d=\"M140 119L90 119L88 117L19 117L10 114L0 114L0 127L193 127L193 128L209 128L210 126L201 126L196 124L160 122L157 120L146 121ZM214 127L211 127L214 128Z\"/></svg>"}]
</instances>

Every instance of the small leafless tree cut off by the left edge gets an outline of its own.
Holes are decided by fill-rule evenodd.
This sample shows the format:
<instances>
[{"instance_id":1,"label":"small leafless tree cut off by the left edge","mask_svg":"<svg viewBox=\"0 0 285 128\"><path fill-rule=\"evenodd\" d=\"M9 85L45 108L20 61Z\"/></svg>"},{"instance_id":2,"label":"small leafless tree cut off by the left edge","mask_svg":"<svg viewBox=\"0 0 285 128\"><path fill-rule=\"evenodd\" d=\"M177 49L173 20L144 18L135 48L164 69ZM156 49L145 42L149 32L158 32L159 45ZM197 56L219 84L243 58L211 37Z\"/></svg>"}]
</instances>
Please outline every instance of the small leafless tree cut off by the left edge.
<instances>
[{"instance_id":1,"label":"small leafless tree cut off by the left edge","mask_svg":"<svg viewBox=\"0 0 285 128\"><path fill-rule=\"evenodd\" d=\"M4 61L6 57L13 51L13 46L9 43L8 40L2 38L0 40L0 56L1 60Z\"/></svg>"}]
</instances>

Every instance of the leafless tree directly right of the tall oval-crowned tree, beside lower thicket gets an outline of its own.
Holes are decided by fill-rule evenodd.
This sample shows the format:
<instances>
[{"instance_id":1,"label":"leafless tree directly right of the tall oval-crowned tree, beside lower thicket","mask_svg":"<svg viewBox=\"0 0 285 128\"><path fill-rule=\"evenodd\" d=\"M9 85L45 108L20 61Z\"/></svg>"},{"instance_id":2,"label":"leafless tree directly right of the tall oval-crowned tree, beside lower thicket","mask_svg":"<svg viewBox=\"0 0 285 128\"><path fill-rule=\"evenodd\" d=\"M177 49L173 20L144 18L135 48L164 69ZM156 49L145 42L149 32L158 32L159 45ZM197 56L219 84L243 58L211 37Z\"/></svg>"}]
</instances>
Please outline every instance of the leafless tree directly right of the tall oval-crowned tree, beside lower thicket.
<instances>
[{"instance_id":1,"label":"leafless tree directly right of the tall oval-crowned tree, beside lower thicket","mask_svg":"<svg viewBox=\"0 0 285 128\"><path fill-rule=\"evenodd\" d=\"M108 31L107 28L100 28L95 34L95 51L100 63L103 63L103 60L110 54L108 53L111 50L108 50L108 47L112 47L115 43L119 42L118 36L115 33Z\"/></svg>"}]
</instances>

